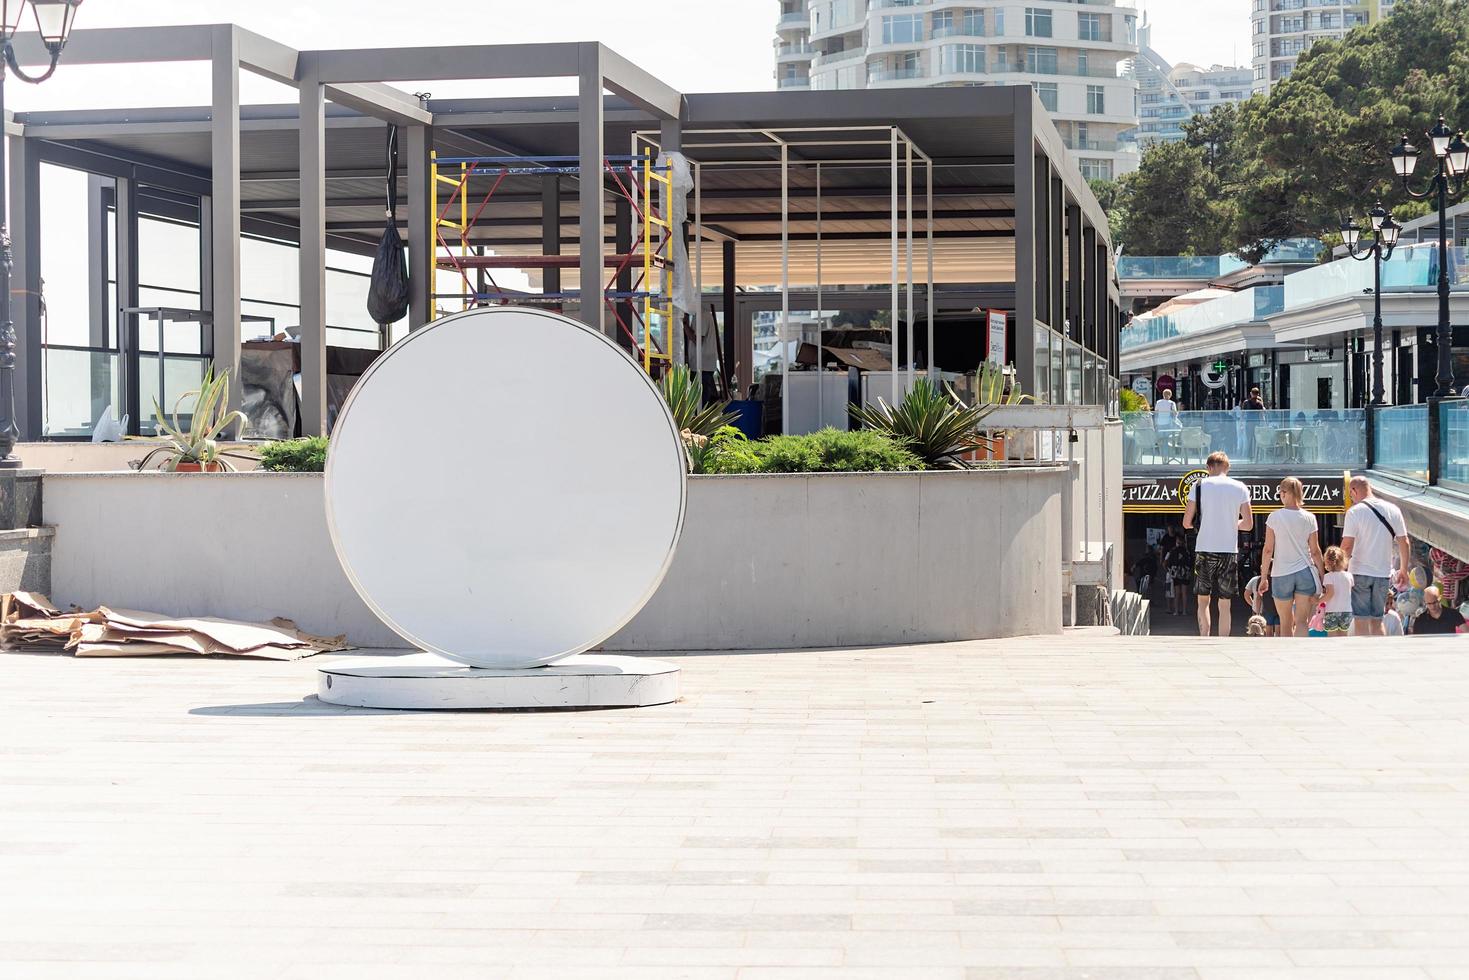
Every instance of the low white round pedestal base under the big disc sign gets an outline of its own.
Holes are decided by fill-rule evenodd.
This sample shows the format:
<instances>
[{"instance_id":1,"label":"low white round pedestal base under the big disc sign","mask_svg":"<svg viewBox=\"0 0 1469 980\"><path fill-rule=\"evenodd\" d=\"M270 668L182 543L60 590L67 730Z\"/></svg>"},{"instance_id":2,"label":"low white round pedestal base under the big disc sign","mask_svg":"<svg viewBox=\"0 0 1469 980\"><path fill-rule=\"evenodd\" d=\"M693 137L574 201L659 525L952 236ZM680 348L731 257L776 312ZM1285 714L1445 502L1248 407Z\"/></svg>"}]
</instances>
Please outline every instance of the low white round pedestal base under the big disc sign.
<instances>
[{"instance_id":1,"label":"low white round pedestal base under the big disc sign","mask_svg":"<svg viewBox=\"0 0 1469 980\"><path fill-rule=\"evenodd\" d=\"M469 667L438 654L360 658L317 671L316 695L354 708L638 708L679 699L663 660L580 654L546 667Z\"/></svg>"}]
</instances>

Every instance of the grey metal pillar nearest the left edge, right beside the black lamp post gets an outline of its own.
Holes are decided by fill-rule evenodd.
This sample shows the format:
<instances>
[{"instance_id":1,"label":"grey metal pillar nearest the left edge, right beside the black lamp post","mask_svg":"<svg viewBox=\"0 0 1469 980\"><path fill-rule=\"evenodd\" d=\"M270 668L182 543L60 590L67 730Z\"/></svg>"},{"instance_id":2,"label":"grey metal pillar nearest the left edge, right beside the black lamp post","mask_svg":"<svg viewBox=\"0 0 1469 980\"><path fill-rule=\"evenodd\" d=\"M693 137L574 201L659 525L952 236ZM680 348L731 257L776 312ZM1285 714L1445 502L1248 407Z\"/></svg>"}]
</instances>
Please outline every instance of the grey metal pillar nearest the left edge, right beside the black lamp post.
<instances>
[{"instance_id":1,"label":"grey metal pillar nearest the left edge, right beside the black lamp post","mask_svg":"<svg viewBox=\"0 0 1469 980\"><path fill-rule=\"evenodd\" d=\"M15 425L22 441L41 438L41 162L26 151L25 137L6 135L9 215L16 241L10 270L10 316L15 320ZM15 291L24 289L21 295Z\"/></svg>"}]
</instances>

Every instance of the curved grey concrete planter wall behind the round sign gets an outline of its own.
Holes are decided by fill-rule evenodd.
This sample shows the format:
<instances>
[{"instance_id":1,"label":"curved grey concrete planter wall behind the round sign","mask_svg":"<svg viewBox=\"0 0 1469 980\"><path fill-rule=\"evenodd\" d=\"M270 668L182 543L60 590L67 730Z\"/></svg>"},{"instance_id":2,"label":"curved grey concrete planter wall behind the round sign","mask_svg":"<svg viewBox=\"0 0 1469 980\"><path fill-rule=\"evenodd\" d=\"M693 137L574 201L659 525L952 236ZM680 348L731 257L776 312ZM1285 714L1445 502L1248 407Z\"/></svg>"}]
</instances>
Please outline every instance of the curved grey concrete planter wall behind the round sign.
<instances>
[{"instance_id":1,"label":"curved grey concrete planter wall behind the round sign","mask_svg":"<svg viewBox=\"0 0 1469 980\"><path fill-rule=\"evenodd\" d=\"M668 577L607 646L1058 632L1064 479L1059 467L692 478ZM43 502L59 604L286 616L360 646L403 645L336 563L319 473L48 473Z\"/></svg>"}]
</instances>

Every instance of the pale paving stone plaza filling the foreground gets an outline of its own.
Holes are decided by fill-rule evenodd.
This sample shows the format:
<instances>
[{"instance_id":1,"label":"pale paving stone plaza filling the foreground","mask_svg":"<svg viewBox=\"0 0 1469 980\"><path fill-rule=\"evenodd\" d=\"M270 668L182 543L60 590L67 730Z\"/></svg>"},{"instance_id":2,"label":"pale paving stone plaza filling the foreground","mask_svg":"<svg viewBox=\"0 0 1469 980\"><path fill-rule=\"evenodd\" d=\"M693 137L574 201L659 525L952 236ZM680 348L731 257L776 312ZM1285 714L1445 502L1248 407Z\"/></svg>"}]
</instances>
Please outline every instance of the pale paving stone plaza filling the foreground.
<instances>
[{"instance_id":1,"label":"pale paving stone plaza filling the foreground","mask_svg":"<svg viewBox=\"0 0 1469 980\"><path fill-rule=\"evenodd\" d=\"M1469 979L1469 639L680 663L430 714L0 655L0 976Z\"/></svg>"}]
</instances>

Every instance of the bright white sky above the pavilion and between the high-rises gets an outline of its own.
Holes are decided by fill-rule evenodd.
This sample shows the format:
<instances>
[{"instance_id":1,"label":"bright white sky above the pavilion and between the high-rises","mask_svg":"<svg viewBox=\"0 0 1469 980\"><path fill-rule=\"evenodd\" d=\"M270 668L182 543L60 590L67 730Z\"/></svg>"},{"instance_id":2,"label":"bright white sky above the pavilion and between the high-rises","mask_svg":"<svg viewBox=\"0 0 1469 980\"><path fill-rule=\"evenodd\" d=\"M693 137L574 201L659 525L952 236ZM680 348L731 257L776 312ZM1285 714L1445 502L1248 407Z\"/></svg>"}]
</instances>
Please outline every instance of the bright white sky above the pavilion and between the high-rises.
<instances>
[{"instance_id":1,"label":"bright white sky above the pavilion and between the high-rises","mask_svg":"<svg viewBox=\"0 0 1469 980\"><path fill-rule=\"evenodd\" d=\"M1130 0L1146 7L1153 47L1169 62L1249 62L1249 0ZM654 10L658 10L655 15ZM432 10L432 16L422 12ZM78 29L159 24L235 22L295 48L408 44L508 44L598 40L685 93L762 91L774 87L771 40L776 0L88 0ZM455 21L455 15L463 18ZM671 15L671 16L668 16ZM670 28L655 31L657 24ZM203 63L120 66L65 65L43 85L12 79L6 107L116 109L204 104ZM404 82L408 91L416 88ZM570 79L536 82L433 82L435 97L569 94ZM417 91L422 91L419 88ZM295 101L275 82L245 76L247 103Z\"/></svg>"}]
</instances>

